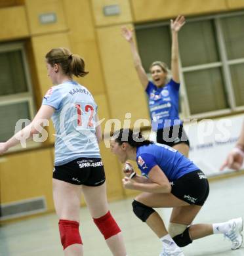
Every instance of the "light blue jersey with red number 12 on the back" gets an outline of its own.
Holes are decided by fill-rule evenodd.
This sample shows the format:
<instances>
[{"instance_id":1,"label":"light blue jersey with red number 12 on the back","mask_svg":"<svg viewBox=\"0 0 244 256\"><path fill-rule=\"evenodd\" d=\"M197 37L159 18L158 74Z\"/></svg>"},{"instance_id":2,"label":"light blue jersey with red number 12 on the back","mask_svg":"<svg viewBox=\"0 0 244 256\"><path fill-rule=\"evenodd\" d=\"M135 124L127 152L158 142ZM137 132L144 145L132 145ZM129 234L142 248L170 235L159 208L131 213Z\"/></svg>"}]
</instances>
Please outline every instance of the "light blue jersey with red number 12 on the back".
<instances>
[{"instance_id":1,"label":"light blue jersey with red number 12 on the back","mask_svg":"<svg viewBox=\"0 0 244 256\"><path fill-rule=\"evenodd\" d=\"M55 165L77 158L100 158L96 139L97 105L87 88L75 81L51 87L43 105L55 109Z\"/></svg>"}]
</instances>

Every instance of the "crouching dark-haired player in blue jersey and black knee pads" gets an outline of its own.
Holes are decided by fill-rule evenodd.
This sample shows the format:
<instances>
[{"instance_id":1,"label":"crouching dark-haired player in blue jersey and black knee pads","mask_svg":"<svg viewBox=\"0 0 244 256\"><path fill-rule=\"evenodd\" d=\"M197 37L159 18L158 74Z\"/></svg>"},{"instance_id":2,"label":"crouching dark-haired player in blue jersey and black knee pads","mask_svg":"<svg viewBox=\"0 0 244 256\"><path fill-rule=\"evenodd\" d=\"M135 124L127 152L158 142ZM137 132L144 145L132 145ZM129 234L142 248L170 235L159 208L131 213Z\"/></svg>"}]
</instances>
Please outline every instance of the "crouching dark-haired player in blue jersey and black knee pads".
<instances>
[{"instance_id":1,"label":"crouching dark-haired player in blue jersey and black knee pads","mask_svg":"<svg viewBox=\"0 0 244 256\"><path fill-rule=\"evenodd\" d=\"M207 177L192 161L174 148L144 140L131 129L115 132L110 145L122 163L136 161L142 173L137 175L127 162L123 185L142 191L132 202L132 208L161 240L160 256L182 256L180 247L211 234L224 234L232 242L232 249L241 247L241 218L226 223L192 224L209 195ZM173 207L168 230L153 209L161 207Z\"/></svg>"}]
</instances>

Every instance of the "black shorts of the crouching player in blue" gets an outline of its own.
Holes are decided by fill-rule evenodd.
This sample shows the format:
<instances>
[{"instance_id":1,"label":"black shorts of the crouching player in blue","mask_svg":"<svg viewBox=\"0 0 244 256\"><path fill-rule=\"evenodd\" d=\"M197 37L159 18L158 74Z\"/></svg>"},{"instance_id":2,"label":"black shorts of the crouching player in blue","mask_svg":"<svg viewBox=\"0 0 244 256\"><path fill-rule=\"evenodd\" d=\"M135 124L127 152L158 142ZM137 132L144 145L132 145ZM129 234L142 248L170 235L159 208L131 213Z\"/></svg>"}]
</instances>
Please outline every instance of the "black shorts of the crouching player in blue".
<instances>
[{"instance_id":1,"label":"black shorts of the crouching player in blue","mask_svg":"<svg viewBox=\"0 0 244 256\"><path fill-rule=\"evenodd\" d=\"M190 204L203 205L209 196L209 182L201 170L192 171L171 182L171 193Z\"/></svg>"}]
</instances>

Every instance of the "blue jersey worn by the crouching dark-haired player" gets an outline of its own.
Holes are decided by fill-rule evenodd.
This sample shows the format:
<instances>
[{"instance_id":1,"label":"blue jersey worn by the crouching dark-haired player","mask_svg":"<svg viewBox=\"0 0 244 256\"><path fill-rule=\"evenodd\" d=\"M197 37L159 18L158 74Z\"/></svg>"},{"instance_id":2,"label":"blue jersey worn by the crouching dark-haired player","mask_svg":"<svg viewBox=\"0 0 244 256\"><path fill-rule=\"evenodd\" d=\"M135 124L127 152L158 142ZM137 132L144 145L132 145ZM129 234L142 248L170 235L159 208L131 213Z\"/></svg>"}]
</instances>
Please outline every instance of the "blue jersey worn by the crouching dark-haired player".
<instances>
[{"instance_id":1,"label":"blue jersey worn by the crouching dark-haired player","mask_svg":"<svg viewBox=\"0 0 244 256\"><path fill-rule=\"evenodd\" d=\"M164 144L140 146L136 150L136 162L143 176L155 165L158 165L169 181L175 181L186 173L197 171L199 168L180 152Z\"/></svg>"}]
</instances>

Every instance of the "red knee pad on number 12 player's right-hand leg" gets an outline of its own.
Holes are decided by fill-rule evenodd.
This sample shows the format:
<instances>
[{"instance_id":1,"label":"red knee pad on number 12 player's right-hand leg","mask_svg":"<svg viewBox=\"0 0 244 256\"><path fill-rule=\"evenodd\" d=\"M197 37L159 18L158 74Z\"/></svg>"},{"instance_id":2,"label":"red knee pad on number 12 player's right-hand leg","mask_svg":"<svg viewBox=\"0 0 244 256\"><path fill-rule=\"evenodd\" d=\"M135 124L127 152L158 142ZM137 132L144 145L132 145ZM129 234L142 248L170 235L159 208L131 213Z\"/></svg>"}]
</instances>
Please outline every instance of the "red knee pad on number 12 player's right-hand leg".
<instances>
[{"instance_id":1,"label":"red knee pad on number 12 player's right-hand leg","mask_svg":"<svg viewBox=\"0 0 244 256\"><path fill-rule=\"evenodd\" d=\"M100 230L100 232L103 234L105 240L121 232L116 221L113 219L110 211L108 211L106 215L100 218L97 218L97 219L93 218L93 221L98 227L98 229Z\"/></svg>"}]
</instances>

